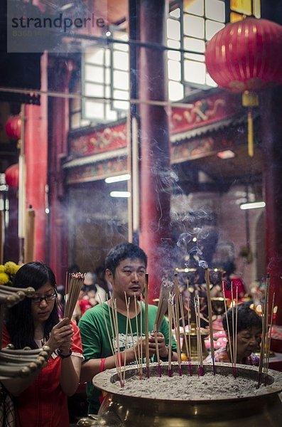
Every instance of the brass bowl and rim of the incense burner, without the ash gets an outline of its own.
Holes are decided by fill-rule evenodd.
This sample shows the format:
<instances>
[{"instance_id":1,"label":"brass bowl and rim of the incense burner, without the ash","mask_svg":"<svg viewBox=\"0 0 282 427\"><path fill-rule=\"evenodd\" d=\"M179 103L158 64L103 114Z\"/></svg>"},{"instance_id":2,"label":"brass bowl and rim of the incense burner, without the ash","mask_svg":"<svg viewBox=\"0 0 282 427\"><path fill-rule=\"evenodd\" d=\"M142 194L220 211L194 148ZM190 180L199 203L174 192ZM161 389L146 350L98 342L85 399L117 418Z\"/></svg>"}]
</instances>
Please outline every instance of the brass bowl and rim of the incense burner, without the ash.
<instances>
[{"instance_id":1,"label":"brass bowl and rim of the incense burner, without the ash","mask_svg":"<svg viewBox=\"0 0 282 427\"><path fill-rule=\"evenodd\" d=\"M231 364L216 364L217 375L232 374ZM163 375L167 375L168 364L162 365ZM188 363L182 364L184 375L189 375ZM144 379L145 378L144 369ZM212 365L205 365L205 372L212 372ZM157 376L156 366L150 367L151 376ZM126 378L136 375L136 368L126 367ZM173 375L178 375L178 366L174 364ZM197 364L192 363L192 375L197 377ZM237 365L237 376L257 380L258 369L246 365ZM282 390L282 374L269 370L267 386L260 386L256 396L242 395L227 398L220 391L207 391L202 399L175 400L149 397L134 397L121 394L116 386L118 376L115 369L94 376L93 384L107 391L99 414L96 418L79 421L79 426L112 427L258 427L281 426L282 403L278 393ZM125 393L125 394L124 394ZM254 393L255 394L255 393Z\"/></svg>"}]
</instances>

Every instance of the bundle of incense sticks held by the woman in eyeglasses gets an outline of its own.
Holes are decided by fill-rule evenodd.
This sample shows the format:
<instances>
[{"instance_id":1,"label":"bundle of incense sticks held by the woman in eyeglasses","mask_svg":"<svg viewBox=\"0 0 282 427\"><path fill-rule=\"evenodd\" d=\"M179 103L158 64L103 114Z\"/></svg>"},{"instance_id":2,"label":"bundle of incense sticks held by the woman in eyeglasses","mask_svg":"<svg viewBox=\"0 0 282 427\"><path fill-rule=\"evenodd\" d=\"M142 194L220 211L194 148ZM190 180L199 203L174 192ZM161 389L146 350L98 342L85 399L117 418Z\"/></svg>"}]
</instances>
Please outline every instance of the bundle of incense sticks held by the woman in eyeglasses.
<instances>
[{"instance_id":1,"label":"bundle of incense sticks held by the woman in eyeglasses","mask_svg":"<svg viewBox=\"0 0 282 427\"><path fill-rule=\"evenodd\" d=\"M84 280L85 275L82 273L67 273L66 275L64 317L68 317L70 320L75 310L75 305L80 295L80 290Z\"/></svg>"}]
</instances>

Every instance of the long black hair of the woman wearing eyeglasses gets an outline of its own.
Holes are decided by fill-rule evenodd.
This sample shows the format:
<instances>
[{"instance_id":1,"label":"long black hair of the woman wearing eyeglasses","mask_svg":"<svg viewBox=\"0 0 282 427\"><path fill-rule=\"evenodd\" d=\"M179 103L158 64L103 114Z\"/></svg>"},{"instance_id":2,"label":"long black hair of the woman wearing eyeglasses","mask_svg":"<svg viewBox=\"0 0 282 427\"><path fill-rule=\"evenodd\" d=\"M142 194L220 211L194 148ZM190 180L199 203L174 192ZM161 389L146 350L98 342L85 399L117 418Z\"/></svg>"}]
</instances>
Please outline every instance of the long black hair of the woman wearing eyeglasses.
<instances>
[{"instance_id":1,"label":"long black hair of the woman wearing eyeglasses","mask_svg":"<svg viewBox=\"0 0 282 427\"><path fill-rule=\"evenodd\" d=\"M24 264L13 278L13 287L15 288L34 288L36 291L46 283L50 283L56 290L56 281L53 271L39 261ZM44 325L44 339L47 341L52 328L59 322L58 304L55 300L50 316ZM11 338L11 344L16 349L31 347L36 349L38 346L34 341L34 325L31 315L31 298L26 297L23 301L13 305L6 310L5 325Z\"/></svg>"}]
</instances>

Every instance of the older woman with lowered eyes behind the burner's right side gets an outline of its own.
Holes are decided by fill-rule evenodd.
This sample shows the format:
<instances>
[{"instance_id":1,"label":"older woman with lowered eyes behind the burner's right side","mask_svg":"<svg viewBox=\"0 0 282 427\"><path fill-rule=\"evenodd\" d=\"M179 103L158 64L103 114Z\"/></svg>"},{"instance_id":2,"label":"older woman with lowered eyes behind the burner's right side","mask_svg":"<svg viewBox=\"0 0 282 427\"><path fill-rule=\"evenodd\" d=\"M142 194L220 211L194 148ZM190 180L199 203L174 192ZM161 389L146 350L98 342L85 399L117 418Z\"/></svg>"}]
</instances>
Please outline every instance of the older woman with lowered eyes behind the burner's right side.
<instances>
[{"instance_id":1,"label":"older woman with lowered eyes behind the burner's right side","mask_svg":"<svg viewBox=\"0 0 282 427\"><path fill-rule=\"evenodd\" d=\"M234 315L236 306L234 307ZM232 308L227 311L227 317L222 316L222 326L227 337L226 347L217 349L215 362L231 362L232 343L228 340L229 326L230 339L233 337ZM237 358L236 363L259 366L259 357L255 354L261 342L262 322L261 317L252 310L248 304L238 305L237 311ZM212 362L209 355L205 362Z\"/></svg>"}]
</instances>

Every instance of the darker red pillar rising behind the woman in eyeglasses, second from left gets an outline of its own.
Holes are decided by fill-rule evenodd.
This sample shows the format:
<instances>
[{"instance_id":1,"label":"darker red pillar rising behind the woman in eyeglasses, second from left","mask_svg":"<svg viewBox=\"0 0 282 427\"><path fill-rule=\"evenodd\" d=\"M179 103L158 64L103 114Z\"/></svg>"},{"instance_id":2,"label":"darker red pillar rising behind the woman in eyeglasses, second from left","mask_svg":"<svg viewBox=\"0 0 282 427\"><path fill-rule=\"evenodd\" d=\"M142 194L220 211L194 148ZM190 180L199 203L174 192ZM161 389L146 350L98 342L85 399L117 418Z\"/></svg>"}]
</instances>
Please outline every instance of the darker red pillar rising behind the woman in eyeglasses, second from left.
<instances>
[{"instance_id":1,"label":"darker red pillar rising behind the woman in eyeglasses, second from left","mask_svg":"<svg viewBox=\"0 0 282 427\"><path fill-rule=\"evenodd\" d=\"M49 87L55 92L68 93L72 61L50 58ZM67 155L69 100L51 97L49 100L49 263L58 284L65 283L67 271L67 209L62 159Z\"/></svg>"}]
</instances>

